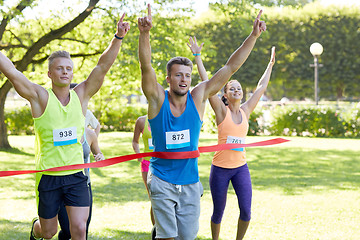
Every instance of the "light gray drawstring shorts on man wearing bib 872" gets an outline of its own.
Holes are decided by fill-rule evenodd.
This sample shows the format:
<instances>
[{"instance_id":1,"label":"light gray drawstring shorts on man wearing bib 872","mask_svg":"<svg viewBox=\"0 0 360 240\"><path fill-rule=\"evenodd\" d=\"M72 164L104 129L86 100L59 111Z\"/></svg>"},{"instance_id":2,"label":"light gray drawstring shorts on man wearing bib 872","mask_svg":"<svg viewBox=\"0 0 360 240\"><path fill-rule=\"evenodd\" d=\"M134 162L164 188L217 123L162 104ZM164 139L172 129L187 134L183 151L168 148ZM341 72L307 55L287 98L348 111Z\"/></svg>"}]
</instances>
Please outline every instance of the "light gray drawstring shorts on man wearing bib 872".
<instances>
[{"instance_id":1,"label":"light gray drawstring shorts on man wearing bib 872","mask_svg":"<svg viewBox=\"0 0 360 240\"><path fill-rule=\"evenodd\" d=\"M151 206L155 216L156 238L194 240L199 231L199 182L176 185L161 180L149 170L147 180Z\"/></svg>"}]
</instances>

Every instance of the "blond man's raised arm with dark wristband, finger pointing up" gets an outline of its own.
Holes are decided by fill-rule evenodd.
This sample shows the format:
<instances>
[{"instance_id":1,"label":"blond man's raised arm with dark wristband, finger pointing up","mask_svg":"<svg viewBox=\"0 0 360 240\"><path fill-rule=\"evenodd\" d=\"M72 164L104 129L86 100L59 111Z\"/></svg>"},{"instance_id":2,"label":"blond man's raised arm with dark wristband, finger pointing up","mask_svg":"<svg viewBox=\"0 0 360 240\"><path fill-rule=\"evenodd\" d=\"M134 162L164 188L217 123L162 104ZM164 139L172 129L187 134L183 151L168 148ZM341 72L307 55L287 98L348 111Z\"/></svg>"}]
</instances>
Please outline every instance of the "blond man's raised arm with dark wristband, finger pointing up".
<instances>
[{"instance_id":1,"label":"blond man's raised arm with dark wristband, finger pointing up","mask_svg":"<svg viewBox=\"0 0 360 240\"><path fill-rule=\"evenodd\" d=\"M129 23L123 21L124 17L125 13L117 23L117 29L110 45L101 54L97 65L91 71L89 77L74 89L83 103L83 108L87 107L89 99L100 89L106 73L119 53L122 39L130 29Z\"/></svg>"}]
</instances>

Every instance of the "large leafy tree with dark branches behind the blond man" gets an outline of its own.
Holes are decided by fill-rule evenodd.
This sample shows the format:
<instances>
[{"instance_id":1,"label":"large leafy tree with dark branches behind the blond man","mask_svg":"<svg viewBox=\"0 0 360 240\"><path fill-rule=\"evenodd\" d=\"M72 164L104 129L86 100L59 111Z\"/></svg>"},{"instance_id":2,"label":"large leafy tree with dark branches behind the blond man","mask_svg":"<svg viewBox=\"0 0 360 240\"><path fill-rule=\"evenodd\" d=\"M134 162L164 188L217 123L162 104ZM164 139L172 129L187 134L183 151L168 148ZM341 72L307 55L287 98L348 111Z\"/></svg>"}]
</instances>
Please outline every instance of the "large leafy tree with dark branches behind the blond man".
<instances>
[{"instance_id":1,"label":"large leafy tree with dark branches behind the blond man","mask_svg":"<svg viewBox=\"0 0 360 240\"><path fill-rule=\"evenodd\" d=\"M184 27L188 25L187 21L190 18L183 15L184 12L189 10L175 7L173 3L176 1L178 0L156 1L157 4L153 8L153 18L155 19L155 26L151 34L153 62L158 81L164 85L166 84L167 61L174 56L185 55L190 57L191 55L186 46L189 36L188 28ZM125 3L126 6L124 6ZM29 3L27 6L32 5ZM95 4L93 4L93 6L95 6ZM135 1L129 3L125 1L108 0L104 2L104 6L105 7L95 8L94 10L97 11L90 16L88 15L86 19L84 18L81 25L73 27L69 31L63 31L61 36L58 35L56 38L48 41L47 44L43 44L41 48L37 49L38 51L32 55L31 61L27 61L27 65L21 69L19 68L19 64L21 61L24 61L22 59L23 56L26 55L26 52L32 45L37 44L36 39L38 36L55 31L53 29L61 29L62 26L65 26L73 20L65 22L60 16L51 16L44 19L28 20L25 23L19 13L20 17L15 19L17 22L11 26L11 29L10 27L8 28L2 39L3 42L8 42L9 44L0 44L0 49L6 49L6 55L14 59L13 62L19 70L22 70L31 81L44 85L45 87L50 87L50 85L48 79L45 77L47 66L44 61L53 49L66 48L66 50L71 53L74 61L75 74L73 82L79 83L86 79L87 74L89 74L92 69L91 67L95 66L98 60L98 56L96 55L100 54L107 47L109 38L114 34L114 26L118 20L120 11L122 12L124 7L126 7L126 20L131 24L131 31L124 39L121 54L119 54L107 74L102 88L89 102L89 108L97 113L96 117L98 117L100 121L103 117L107 117L107 112L123 109L122 106L126 104L125 97L132 94L141 94L141 75L137 53L137 16L142 16L146 11L145 4L140 6L139 3ZM90 13L90 10L88 12ZM113 22L114 25L109 24L111 22ZM31 29L31 31L28 31L28 29ZM0 79L0 84L1 83ZM6 84L11 88L9 82ZM4 93L5 95L3 100L5 101L8 91L1 91L0 93ZM4 106L4 104L2 106ZM2 112L4 112L4 110L2 110ZM4 123L4 120L2 120L2 123ZM2 142L5 142L7 145L2 144L0 148L9 147L6 129L4 127L5 125L3 124L4 130L1 130L1 135L4 140Z\"/></svg>"}]
</instances>

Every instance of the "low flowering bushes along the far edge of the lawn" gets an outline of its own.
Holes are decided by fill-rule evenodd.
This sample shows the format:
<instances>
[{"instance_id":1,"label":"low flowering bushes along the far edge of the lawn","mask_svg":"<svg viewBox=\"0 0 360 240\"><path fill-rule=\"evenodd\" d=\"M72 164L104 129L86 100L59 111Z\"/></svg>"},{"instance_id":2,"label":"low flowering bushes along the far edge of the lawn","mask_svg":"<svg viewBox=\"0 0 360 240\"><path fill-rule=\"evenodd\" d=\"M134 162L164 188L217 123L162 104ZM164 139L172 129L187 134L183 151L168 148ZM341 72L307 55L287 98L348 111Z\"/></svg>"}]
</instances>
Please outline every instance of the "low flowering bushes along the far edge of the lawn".
<instances>
[{"instance_id":1,"label":"low flowering bushes along the far edge of the lawn","mask_svg":"<svg viewBox=\"0 0 360 240\"><path fill-rule=\"evenodd\" d=\"M259 122L261 111L255 110L249 119L248 135L261 135L264 129L271 135L314 136L314 137L360 137L360 103L353 104L347 110L336 107L315 106L276 106L270 110L270 126ZM132 132L136 119L147 114L147 105L128 105L106 107L100 116L102 131ZM34 121L28 106L5 111L5 124L9 135L34 134ZM268 123L267 123L268 124ZM217 133L214 111L206 105L202 131Z\"/></svg>"}]
</instances>

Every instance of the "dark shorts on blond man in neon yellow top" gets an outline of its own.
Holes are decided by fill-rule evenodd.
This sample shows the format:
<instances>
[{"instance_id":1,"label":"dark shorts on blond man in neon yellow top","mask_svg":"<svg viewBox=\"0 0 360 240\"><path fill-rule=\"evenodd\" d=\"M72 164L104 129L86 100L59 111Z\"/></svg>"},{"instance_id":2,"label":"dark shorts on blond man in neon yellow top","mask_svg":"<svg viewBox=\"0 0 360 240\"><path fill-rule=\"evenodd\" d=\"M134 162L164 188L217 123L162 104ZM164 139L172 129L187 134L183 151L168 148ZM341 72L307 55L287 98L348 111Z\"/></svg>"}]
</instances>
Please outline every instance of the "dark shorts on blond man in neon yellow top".
<instances>
[{"instance_id":1,"label":"dark shorts on blond man in neon yellow top","mask_svg":"<svg viewBox=\"0 0 360 240\"><path fill-rule=\"evenodd\" d=\"M83 172L65 176L42 175L38 191L38 214L41 218L55 217L63 203L65 206L90 206L87 176Z\"/></svg>"}]
</instances>

